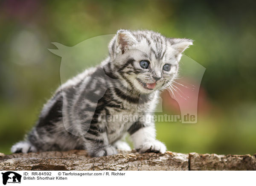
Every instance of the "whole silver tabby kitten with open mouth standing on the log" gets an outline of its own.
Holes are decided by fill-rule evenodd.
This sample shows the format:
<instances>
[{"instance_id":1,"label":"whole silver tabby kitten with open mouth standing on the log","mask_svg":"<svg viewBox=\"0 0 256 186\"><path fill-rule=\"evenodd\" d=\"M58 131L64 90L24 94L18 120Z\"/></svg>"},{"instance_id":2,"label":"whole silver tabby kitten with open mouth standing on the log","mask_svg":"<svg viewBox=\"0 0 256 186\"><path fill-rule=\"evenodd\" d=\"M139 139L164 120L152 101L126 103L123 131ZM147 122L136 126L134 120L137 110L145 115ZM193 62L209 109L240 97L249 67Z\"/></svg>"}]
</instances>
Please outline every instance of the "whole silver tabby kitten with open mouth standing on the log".
<instances>
[{"instance_id":1,"label":"whole silver tabby kitten with open mouth standing on the log","mask_svg":"<svg viewBox=\"0 0 256 186\"><path fill-rule=\"evenodd\" d=\"M177 77L181 53L192 40L166 38L152 31L121 29L111 40L109 57L60 87L13 153L86 149L90 156L131 150L122 141L129 133L140 153L166 151L155 139L153 122L140 116L154 113L160 90ZM137 121L106 121L102 117L132 115ZM74 135L75 134L75 135Z\"/></svg>"}]
</instances>

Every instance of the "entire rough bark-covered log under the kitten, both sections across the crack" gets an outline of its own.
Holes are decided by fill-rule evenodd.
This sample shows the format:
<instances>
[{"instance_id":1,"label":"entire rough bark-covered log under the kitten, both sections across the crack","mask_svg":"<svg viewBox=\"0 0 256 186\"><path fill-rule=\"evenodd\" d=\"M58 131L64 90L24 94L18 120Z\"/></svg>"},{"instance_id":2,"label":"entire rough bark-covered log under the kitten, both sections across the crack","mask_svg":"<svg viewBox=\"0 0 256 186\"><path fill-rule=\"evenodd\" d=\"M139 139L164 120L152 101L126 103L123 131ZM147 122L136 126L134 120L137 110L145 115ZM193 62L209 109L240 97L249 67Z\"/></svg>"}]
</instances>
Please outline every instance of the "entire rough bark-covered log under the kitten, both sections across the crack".
<instances>
[{"instance_id":1,"label":"entire rough bark-covered log under the kitten, both sections across the crack","mask_svg":"<svg viewBox=\"0 0 256 186\"><path fill-rule=\"evenodd\" d=\"M106 157L88 157L86 151L0 153L0 170L256 170L256 154L165 154L135 151Z\"/></svg>"}]
</instances>

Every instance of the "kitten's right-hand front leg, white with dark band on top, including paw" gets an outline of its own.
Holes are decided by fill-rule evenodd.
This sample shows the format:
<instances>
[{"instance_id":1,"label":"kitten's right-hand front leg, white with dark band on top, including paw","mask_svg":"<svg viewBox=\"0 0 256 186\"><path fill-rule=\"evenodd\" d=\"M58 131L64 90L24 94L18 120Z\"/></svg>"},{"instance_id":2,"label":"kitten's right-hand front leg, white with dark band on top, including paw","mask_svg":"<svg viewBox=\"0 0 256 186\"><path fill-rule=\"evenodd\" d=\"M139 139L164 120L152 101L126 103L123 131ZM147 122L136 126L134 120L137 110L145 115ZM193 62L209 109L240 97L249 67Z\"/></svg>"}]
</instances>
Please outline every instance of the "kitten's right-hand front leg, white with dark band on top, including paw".
<instances>
[{"instance_id":1,"label":"kitten's right-hand front leg, white with dark band on top, including paw","mask_svg":"<svg viewBox=\"0 0 256 186\"><path fill-rule=\"evenodd\" d=\"M155 139L154 123L135 122L128 130L131 139L134 142L134 147L140 153L155 152L165 153L166 146Z\"/></svg>"}]
</instances>

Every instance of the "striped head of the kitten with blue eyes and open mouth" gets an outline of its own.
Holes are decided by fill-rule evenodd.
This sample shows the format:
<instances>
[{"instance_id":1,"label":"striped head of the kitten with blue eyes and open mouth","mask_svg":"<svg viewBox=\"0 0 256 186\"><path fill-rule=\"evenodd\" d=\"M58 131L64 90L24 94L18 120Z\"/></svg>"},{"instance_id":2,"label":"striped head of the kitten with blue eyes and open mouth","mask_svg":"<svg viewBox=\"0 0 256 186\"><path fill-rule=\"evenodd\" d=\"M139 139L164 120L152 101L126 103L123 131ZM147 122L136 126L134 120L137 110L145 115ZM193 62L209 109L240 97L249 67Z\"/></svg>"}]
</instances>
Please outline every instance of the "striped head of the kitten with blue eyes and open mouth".
<instances>
[{"instance_id":1,"label":"striped head of the kitten with blue eyes and open mouth","mask_svg":"<svg viewBox=\"0 0 256 186\"><path fill-rule=\"evenodd\" d=\"M166 38L152 31L118 30L109 44L116 73L128 89L152 93L165 89L177 77L182 52L190 39Z\"/></svg>"}]
</instances>

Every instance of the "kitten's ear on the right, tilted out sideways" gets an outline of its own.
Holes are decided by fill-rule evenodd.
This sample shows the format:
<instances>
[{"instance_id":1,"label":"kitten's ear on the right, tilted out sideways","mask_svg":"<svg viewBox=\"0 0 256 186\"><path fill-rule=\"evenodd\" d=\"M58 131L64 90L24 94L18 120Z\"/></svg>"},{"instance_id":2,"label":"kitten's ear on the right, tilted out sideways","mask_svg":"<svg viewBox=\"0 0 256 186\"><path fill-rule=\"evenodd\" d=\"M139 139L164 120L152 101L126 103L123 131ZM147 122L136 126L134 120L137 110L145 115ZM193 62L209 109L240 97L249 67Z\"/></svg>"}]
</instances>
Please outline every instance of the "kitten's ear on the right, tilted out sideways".
<instances>
[{"instance_id":1,"label":"kitten's ear on the right, tilted out sideways","mask_svg":"<svg viewBox=\"0 0 256 186\"><path fill-rule=\"evenodd\" d=\"M177 52L177 54L180 54L184 52L185 49L187 49L190 45L193 44L193 40L191 39L179 39L174 38L169 40L171 43L172 48L174 48Z\"/></svg>"}]
</instances>

